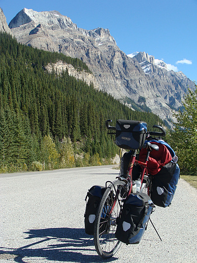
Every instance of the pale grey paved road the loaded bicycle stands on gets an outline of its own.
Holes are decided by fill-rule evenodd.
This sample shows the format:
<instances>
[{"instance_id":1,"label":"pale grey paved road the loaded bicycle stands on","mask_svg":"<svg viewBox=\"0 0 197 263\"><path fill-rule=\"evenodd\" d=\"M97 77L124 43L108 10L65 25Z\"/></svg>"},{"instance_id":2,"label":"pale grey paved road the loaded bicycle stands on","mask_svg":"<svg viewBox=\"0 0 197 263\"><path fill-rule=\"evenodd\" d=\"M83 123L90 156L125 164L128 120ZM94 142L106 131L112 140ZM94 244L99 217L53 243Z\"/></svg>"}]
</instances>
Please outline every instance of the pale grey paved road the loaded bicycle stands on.
<instances>
[{"instance_id":1,"label":"pale grey paved road the loaded bicycle stands on","mask_svg":"<svg viewBox=\"0 0 197 263\"><path fill-rule=\"evenodd\" d=\"M84 231L87 190L114 180L112 166L0 175L0 263L98 263ZM169 208L157 208L138 245L114 263L197 263L197 190L179 180Z\"/></svg>"}]
</instances>

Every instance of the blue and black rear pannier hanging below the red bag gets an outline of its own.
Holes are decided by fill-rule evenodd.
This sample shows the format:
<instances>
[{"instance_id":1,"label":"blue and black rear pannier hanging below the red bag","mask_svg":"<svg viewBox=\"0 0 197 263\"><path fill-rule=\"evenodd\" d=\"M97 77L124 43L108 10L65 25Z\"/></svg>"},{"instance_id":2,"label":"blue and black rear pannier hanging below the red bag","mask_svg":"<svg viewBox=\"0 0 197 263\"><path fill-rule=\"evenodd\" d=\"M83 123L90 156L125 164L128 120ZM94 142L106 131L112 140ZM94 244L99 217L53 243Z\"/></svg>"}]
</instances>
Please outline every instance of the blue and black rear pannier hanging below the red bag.
<instances>
[{"instance_id":1,"label":"blue and black rear pannier hanging below the red bag","mask_svg":"<svg viewBox=\"0 0 197 263\"><path fill-rule=\"evenodd\" d=\"M151 199L155 205L167 207L171 204L178 184L179 174L180 169L178 164L169 162L159 173L154 175Z\"/></svg>"}]
</instances>

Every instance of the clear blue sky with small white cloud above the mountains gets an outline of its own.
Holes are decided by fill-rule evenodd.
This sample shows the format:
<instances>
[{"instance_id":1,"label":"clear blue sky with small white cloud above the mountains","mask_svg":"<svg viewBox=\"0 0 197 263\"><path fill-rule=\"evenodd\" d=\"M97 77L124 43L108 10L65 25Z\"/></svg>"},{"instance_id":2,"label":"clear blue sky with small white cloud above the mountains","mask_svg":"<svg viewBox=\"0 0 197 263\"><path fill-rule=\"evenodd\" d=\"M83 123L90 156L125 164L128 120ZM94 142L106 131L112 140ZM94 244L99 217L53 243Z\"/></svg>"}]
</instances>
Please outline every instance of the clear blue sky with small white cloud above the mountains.
<instances>
[{"instance_id":1,"label":"clear blue sky with small white cloud above the mountains","mask_svg":"<svg viewBox=\"0 0 197 263\"><path fill-rule=\"evenodd\" d=\"M197 81L197 0L0 0L7 23L24 7L57 10L79 28L108 28L126 54L145 51Z\"/></svg>"}]
</instances>

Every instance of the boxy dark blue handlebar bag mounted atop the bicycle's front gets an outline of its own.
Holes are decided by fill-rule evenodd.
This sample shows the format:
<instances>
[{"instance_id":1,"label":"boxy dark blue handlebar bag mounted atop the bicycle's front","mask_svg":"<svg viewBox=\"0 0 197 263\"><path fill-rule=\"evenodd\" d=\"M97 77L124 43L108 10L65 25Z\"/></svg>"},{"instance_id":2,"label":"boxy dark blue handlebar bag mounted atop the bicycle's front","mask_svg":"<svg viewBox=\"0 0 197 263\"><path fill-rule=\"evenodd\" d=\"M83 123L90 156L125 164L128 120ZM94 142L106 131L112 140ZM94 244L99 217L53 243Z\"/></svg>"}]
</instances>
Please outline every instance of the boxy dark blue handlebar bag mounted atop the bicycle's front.
<instances>
[{"instance_id":1,"label":"boxy dark blue handlebar bag mounted atop the bicycle's front","mask_svg":"<svg viewBox=\"0 0 197 263\"><path fill-rule=\"evenodd\" d=\"M144 144L146 131L146 122L119 119L116 122L115 143L118 147L127 150L140 149Z\"/></svg>"}]
</instances>

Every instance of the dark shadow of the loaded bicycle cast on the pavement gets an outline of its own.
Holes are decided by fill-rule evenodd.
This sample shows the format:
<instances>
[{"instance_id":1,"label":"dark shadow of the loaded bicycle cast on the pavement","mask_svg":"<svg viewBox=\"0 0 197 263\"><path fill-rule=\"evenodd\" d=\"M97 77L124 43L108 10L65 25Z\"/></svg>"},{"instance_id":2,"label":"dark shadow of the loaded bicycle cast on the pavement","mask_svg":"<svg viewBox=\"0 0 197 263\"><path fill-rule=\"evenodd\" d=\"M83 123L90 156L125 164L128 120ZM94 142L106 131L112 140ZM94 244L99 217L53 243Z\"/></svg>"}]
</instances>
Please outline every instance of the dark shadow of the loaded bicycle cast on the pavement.
<instances>
[{"instance_id":1,"label":"dark shadow of the loaded bicycle cast on the pavement","mask_svg":"<svg viewBox=\"0 0 197 263\"><path fill-rule=\"evenodd\" d=\"M17 249L0 250L0 254L14 255L13 261L17 263L26 263L29 258L37 262L42 261L41 258L53 262L102 262L95 252L93 238L83 228L31 229L24 233L29 234L25 239L34 239L34 242ZM113 257L105 261L116 259Z\"/></svg>"}]
</instances>

